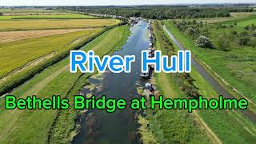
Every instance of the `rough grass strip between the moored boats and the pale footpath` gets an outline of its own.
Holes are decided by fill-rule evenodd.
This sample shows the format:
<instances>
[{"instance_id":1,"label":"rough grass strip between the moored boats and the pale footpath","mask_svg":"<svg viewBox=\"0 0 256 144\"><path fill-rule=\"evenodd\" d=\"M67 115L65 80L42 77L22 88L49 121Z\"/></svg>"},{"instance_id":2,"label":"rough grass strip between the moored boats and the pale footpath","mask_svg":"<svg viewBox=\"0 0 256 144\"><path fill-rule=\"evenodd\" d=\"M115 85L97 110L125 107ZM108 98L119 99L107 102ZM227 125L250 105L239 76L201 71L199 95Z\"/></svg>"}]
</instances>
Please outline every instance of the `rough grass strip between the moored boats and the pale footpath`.
<instances>
[{"instance_id":1,"label":"rough grass strip between the moored boats and the pale footpath","mask_svg":"<svg viewBox=\"0 0 256 144\"><path fill-rule=\"evenodd\" d=\"M154 36L156 37L156 47L158 50L162 50L162 53L166 54L166 49L172 49L172 47L166 47L167 45L164 44L166 40L162 37L165 37L166 35L163 33L162 28L160 25L158 25L158 22L154 22ZM159 27L160 26L160 27ZM161 34L162 33L162 34ZM166 37L167 38L167 37ZM165 96L165 98L181 98L182 93L179 90L178 86L174 83L172 74L166 74L166 73L159 73L156 74L155 81L157 83L158 90L161 91L162 95ZM215 139L218 139L218 137L213 133L212 130L210 130L210 127L206 125L206 122L202 121L202 118L198 117L198 114L187 114L187 112L184 110L159 110L157 114L162 115L162 118L158 116L159 122L172 122L172 124L166 124L166 126L163 128L162 125L165 126L165 124L155 124L160 125L159 127L162 127L161 129L163 131L175 131L178 130L177 133L172 132L171 135L166 134L164 137L170 137L174 139L174 142L215 142ZM169 115L171 115L171 118L169 118ZM183 116L186 115L186 118L183 118ZM179 119L182 118L182 119ZM169 120L168 120L169 119ZM170 120L171 119L171 120ZM178 120L179 119L179 120ZM194 120L196 119L196 120ZM150 118L150 122L154 122L154 118ZM201 124L201 122L204 123L204 125L198 125ZM197 124L194 124L197 123ZM154 123L152 124L154 125ZM188 126L188 127L186 127ZM151 129L152 130L152 129ZM186 133L186 130L189 130L190 132ZM182 134L186 134L186 138L182 136ZM154 133L155 134L155 133ZM190 137L192 138L188 138ZM161 141L161 136L157 134L158 140ZM221 142L219 142L221 143Z\"/></svg>"}]
</instances>

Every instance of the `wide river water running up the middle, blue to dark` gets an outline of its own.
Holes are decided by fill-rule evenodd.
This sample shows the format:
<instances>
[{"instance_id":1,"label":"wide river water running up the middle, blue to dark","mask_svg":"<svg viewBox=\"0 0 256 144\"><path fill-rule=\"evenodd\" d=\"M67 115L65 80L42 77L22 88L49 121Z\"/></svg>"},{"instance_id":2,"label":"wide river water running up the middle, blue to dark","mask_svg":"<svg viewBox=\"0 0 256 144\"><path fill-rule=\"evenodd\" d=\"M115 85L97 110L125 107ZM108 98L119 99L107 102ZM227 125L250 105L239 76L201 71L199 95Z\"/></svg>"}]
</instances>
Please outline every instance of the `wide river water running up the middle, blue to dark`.
<instances>
[{"instance_id":1,"label":"wide river water running up the middle, blue to dark","mask_svg":"<svg viewBox=\"0 0 256 144\"><path fill-rule=\"evenodd\" d=\"M132 63L130 74L114 74L106 72L102 74L101 79L90 78L90 83L94 84L96 89L90 90L96 96L106 95L107 98L124 98L128 103L131 98L138 97L137 85L144 85L140 79L141 71L141 51L146 50L150 44L148 38L149 30L147 22L138 22L130 28L131 35L122 47L113 55L135 55L136 61ZM84 89L84 93L89 89ZM129 103L126 107L129 107ZM137 122L135 120L135 111L126 108L126 110L117 110L113 114L105 110L90 110L82 115L80 124L82 125L80 133L74 138L72 143L138 143L138 134L136 132Z\"/></svg>"}]
</instances>

